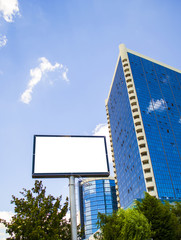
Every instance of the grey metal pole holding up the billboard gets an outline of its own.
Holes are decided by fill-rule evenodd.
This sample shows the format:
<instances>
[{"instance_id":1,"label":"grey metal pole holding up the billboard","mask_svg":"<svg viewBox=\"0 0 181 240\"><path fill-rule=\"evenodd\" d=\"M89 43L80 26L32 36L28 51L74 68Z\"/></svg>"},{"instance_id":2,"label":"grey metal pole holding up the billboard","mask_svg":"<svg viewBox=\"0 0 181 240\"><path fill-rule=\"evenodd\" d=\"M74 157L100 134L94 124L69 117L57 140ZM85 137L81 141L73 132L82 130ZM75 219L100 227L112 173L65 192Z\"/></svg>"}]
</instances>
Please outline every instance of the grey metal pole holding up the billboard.
<instances>
[{"instance_id":1,"label":"grey metal pole holding up the billboard","mask_svg":"<svg viewBox=\"0 0 181 240\"><path fill-rule=\"evenodd\" d=\"M72 240L77 240L77 217L76 217L76 199L75 199L75 177L69 177L69 196L70 196L70 218Z\"/></svg>"}]
</instances>

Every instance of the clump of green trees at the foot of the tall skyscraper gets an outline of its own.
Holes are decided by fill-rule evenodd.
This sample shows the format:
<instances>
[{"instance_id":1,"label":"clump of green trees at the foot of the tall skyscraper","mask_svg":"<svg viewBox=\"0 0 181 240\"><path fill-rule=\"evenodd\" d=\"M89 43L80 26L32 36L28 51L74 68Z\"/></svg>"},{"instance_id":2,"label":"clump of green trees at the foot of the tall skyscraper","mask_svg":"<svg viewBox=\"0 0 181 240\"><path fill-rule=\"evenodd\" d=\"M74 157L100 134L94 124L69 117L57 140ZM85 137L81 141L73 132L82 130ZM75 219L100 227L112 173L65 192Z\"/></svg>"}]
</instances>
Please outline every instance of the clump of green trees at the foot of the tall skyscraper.
<instances>
[{"instance_id":1,"label":"clump of green trees at the foot of the tall skyscraper","mask_svg":"<svg viewBox=\"0 0 181 240\"><path fill-rule=\"evenodd\" d=\"M162 203L145 193L133 209L119 209L112 215L98 214L99 240L180 240L181 203Z\"/></svg>"}]
</instances>

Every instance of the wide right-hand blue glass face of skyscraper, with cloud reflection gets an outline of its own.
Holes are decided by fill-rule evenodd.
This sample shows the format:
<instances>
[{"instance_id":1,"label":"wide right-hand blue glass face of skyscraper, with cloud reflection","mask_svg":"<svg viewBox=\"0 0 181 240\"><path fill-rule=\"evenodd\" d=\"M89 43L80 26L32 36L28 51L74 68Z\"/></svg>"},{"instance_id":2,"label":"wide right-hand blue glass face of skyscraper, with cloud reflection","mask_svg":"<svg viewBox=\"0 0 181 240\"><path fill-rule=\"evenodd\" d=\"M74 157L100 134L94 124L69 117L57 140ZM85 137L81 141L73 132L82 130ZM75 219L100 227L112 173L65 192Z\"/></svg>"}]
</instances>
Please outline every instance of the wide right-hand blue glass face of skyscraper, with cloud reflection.
<instances>
[{"instance_id":1,"label":"wide right-hand blue glass face of skyscraper, with cloud reflection","mask_svg":"<svg viewBox=\"0 0 181 240\"><path fill-rule=\"evenodd\" d=\"M181 199L181 74L128 53L159 198Z\"/></svg>"}]
</instances>

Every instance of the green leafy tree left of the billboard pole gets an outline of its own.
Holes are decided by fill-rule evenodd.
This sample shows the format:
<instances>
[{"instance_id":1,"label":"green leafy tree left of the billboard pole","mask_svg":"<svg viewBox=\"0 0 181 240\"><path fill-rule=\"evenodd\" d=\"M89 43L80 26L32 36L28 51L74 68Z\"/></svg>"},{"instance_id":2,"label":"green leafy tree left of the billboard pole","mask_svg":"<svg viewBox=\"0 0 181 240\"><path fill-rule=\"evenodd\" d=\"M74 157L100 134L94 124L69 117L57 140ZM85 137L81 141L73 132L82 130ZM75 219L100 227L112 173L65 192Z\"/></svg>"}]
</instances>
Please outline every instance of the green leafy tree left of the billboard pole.
<instances>
[{"instance_id":1,"label":"green leafy tree left of the billboard pole","mask_svg":"<svg viewBox=\"0 0 181 240\"><path fill-rule=\"evenodd\" d=\"M1 219L11 237L8 239L28 240L70 240L71 224L65 216L68 199L61 206L61 196L45 195L46 188L41 181L35 181L31 190L23 189L23 197L12 196L15 215L10 223Z\"/></svg>"}]
</instances>

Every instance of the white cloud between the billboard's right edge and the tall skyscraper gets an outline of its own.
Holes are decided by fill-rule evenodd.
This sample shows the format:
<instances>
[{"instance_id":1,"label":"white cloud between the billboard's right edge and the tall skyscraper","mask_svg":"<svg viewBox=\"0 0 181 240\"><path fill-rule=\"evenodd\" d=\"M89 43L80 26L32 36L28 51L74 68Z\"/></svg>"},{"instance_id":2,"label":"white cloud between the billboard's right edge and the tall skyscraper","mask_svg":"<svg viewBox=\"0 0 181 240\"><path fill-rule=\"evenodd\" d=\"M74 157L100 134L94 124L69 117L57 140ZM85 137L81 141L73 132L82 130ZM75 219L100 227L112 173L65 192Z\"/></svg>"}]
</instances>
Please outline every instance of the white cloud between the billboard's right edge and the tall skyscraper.
<instances>
[{"instance_id":1,"label":"white cloud between the billboard's right edge and the tall skyscraper","mask_svg":"<svg viewBox=\"0 0 181 240\"><path fill-rule=\"evenodd\" d=\"M94 136L105 136L106 137L108 159L109 159L109 162L112 162L112 154L111 154L111 146L110 146L108 125L106 123L98 124L96 126L96 128L93 130L93 135Z\"/></svg>"}]
</instances>

